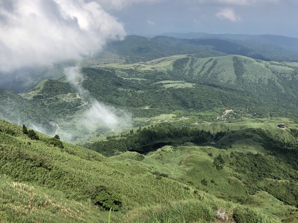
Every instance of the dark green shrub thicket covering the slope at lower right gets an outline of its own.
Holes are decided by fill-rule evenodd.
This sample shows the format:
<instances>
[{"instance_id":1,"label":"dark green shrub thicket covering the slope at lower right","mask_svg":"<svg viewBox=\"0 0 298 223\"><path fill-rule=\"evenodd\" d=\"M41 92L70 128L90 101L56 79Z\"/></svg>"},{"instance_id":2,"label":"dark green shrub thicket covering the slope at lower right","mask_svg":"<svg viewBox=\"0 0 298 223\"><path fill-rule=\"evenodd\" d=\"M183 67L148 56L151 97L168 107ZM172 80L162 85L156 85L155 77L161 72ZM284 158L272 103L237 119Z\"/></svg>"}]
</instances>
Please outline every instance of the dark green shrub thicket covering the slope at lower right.
<instances>
[{"instance_id":1,"label":"dark green shrub thicket covering the slope at lower right","mask_svg":"<svg viewBox=\"0 0 298 223\"><path fill-rule=\"evenodd\" d=\"M231 160L231 167L242 173L242 180L251 193L268 191L286 204L298 206L297 171L277 158L262 154L233 152Z\"/></svg>"}]
</instances>

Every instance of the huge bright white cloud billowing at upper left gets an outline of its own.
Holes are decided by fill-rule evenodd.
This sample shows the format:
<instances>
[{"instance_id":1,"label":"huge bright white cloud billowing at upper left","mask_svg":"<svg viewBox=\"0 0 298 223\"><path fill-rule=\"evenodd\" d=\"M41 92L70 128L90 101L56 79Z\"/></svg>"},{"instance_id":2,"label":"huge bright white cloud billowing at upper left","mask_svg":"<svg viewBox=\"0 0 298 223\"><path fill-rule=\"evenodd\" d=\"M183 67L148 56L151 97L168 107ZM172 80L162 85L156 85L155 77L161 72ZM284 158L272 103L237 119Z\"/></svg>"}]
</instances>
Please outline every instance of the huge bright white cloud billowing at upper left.
<instances>
[{"instance_id":1,"label":"huge bright white cloud billowing at upper left","mask_svg":"<svg viewBox=\"0 0 298 223\"><path fill-rule=\"evenodd\" d=\"M85 0L0 0L0 30L4 72L80 58L125 36L115 17Z\"/></svg>"}]
</instances>

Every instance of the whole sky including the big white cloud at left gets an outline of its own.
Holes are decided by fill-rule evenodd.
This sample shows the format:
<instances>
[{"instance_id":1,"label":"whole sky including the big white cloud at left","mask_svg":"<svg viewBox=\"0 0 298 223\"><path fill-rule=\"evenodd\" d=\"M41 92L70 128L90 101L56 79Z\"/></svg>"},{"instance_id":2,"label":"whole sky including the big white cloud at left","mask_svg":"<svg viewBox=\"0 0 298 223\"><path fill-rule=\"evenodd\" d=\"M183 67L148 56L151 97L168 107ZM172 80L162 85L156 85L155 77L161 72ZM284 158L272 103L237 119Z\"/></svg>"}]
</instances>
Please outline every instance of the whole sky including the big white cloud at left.
<instances>
[{"instance_id":1,"label":"whole sky including the big white cloud at left","mask_svg":"<svg viewBox=\"0 0 298 223\"><path fill-rule=\"evenodd\" d=\"M298 37L298 0L0 0L0 74L90 56L128 34Z\"/></svg>"}]
</instances>

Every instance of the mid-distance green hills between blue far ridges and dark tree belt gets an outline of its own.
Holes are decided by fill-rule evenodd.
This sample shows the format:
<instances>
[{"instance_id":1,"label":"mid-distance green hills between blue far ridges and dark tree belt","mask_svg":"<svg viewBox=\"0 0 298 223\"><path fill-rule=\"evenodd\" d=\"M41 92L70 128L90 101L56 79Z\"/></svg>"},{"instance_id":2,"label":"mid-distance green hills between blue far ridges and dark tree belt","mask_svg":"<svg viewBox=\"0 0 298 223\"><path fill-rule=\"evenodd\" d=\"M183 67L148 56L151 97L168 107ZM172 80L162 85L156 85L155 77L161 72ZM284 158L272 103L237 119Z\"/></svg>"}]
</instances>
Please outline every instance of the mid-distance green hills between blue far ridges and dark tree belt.
<instances>
[{"instance_id":1,"label":"mid-distance green hills between blue far ridges and dark tree belt","mask_svg":"<svg viewBox=\"0 0 298 223\"><path fill-rule=\"evenodd\" d=\"M157 117L161 114L174 114L176 119L187 114L193 122L218 121L225 110L233 110L233 115L226 116L231 120L298 117L295 63L234 55L178 55L132 64L90 61L81 72L84 80L80 86L90 92L90 97L116 107L119 117L131 113L134 127L161 121ZM105 125L92 131L83 125L81 117L93 104L65 79L44 80L25 94L1 90L0 98L2 118L50 135L58 124L64 140L86 142L112 132ZM127 126L122 124L118 129Z\"/></svg>"}]
</instances>

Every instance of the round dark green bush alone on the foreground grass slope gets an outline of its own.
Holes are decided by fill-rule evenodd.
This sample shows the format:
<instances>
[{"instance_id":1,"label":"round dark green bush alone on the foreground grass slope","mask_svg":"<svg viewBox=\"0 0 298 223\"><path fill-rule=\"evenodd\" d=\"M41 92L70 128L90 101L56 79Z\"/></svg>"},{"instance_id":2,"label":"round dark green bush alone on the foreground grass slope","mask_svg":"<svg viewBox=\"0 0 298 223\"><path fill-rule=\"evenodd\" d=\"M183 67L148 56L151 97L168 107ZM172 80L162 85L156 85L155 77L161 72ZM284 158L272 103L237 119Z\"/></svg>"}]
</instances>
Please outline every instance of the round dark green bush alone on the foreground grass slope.
<instances>
[{"instance_id":1,"label":"round dark green bush alone on the foreground grass slope","mask_svg":"<svg viewBox=\"0 0 298 223\"><path fill-rule=\"evenodd\" d=\"M97 186L91 198L95 205L101 206L106 210L110 210L112 208L114 211L119 211L122 207L121 196L119 194L112 193L104 186Z\"/></svg>"}]
</instances>

